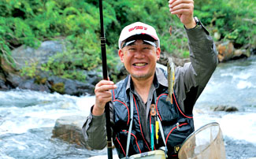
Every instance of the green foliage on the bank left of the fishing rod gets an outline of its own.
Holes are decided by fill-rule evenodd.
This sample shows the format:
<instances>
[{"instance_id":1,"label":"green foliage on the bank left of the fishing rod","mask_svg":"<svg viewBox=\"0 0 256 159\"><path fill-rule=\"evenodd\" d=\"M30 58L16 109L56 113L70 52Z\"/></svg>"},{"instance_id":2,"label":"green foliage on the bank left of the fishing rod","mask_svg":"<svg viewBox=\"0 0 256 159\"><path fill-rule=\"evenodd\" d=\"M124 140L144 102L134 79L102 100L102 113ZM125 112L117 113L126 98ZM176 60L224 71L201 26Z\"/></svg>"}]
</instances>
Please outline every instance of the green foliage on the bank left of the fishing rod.
<instances>
[{"instance_id":1,"label":"green foliage on the bank left of the fishing rod","mask_svg":"<svg viewBox=\"0 0 256 159\"><path fill-rule=\"evenodd\" d=\"M97 13L98 7L87 2L2 0L0 55L13 63L10 51L17 46L38 47L41 41L67 37L70 45L66 52L50 57L41 70L84 80L83 73L74 70L90 70L101 62ZM36 75L34 68L35 65L24 67L21 74L33 77Z\"/></svg>"}]
</instances>

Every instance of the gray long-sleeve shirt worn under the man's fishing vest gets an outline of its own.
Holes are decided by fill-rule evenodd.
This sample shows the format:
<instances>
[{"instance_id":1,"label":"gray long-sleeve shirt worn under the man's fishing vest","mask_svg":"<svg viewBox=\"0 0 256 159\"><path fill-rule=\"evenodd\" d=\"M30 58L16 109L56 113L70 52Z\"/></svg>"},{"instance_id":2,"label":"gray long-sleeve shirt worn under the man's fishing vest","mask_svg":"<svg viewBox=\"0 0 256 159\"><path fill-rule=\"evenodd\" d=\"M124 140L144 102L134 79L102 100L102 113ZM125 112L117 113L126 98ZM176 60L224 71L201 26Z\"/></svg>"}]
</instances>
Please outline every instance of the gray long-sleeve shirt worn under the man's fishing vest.
<instances>
[{"instance_id":1,"label":"gray long-sleeve shirt worn under the man's fishing vest","mask_svg":"<svg viewBox=\"0 0 256 159\"><path fill-rule=\"evenodd\" d=\"M217 66L217 51L209 32L202 25L186 29L186 31L191 62L186 63L183 67L176 68L174 91L180 108L184 113L192 114L196 100L206 87L206 83L210 80L210 76ZM155 75L157 76L158 83L168 87L168 82L163 72L156 68ZM128 82L126 89L130 89L130 82ZM147 133L149 131L147 128L147 117L154 90L154 84L152 84L147 105L139 98L139 94L134 91L134 94L138 97L139 111L144 112L140 113L139 118L142 119L143 131L148 142L150 142L150 133ZM110 117L113 124L112 106L110 104ZM83 124L83 136L87 145L92 149L103 149L106 146L105 114L102 114L102 116L94 116L92 114L87 116Z\"/></svg>"}]
</instances>

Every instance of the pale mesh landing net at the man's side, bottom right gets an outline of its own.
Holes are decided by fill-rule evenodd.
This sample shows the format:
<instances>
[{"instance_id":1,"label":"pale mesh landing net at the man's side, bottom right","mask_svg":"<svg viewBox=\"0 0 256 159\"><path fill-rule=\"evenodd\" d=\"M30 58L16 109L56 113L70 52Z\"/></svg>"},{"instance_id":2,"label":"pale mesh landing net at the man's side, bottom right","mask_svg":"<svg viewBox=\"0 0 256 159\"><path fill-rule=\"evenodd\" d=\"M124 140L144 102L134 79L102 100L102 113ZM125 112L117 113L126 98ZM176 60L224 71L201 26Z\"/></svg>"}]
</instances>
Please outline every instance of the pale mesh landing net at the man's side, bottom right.
<instances>
[{"instance_id":1,"label":"pale mesh landing net at the man's side, bottom right","mask_svg":"<svg viewBox=\"0 0 256 159\"><path fill-rule=\"evenodd\" d=\"M225 159L224 141L220 125L206 124L184 141L180 148L180 159Z\"/></svg>"}]
</instances>

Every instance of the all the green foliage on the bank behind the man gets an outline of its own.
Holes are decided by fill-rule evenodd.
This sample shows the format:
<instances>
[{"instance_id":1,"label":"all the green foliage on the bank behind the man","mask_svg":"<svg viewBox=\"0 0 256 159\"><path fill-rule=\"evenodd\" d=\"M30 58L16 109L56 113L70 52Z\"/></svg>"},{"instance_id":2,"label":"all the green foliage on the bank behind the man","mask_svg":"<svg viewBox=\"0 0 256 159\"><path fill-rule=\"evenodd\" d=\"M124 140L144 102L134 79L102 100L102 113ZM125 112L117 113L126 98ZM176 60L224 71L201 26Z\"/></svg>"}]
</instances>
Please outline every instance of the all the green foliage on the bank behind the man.
<instances>
[{"instance_id":1,"label":"all the green foliage on the bank behind the man","mask_svg":"<svg viewBox=\"0 0 256 159\"><path fill-rule=\"evenodd\" d=\"M211 34L219 32L221 39L232 40L236 46L255 45L255 7L254 0L197 0L195 16L210 28ZM162 52L188 56L184 26L169 13L167 1L106 0L103 8L108 67L112 72L118 71L117 40L121 29L135 21L156 28ZM23 44L38 47L45 40L64 37L69 43L65 52L50 57L40 70L84 80L83 72L77 70L101 65L99 26L98 0L1 0L0 56L13 63L13 48ZM23 73L35 76L37 69L32 66L24 68Z\"/></svg>"}]
</instances>

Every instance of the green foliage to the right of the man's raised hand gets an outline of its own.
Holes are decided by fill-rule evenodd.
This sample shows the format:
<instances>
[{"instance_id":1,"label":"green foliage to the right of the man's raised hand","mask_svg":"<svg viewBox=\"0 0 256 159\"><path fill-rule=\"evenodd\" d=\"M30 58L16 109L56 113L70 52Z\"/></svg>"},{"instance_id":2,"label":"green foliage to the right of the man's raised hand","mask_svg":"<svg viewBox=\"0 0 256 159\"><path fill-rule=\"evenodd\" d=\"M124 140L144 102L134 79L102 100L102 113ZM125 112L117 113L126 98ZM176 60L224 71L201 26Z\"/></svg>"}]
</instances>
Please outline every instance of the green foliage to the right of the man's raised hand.
<instances>
[{"instance_id":1,"label":"green foliage to the right of the man's raised hand","mask_svg":"<svg viewBox=\"0 0 256 159\"><path fill-rule=\"evenodd\" d=\"M256 2L253 0L212 0L195 2L195 15L236 46L256 43ZM212 33L213 33L212 32Z\"/></svg>"}]
</instances>

